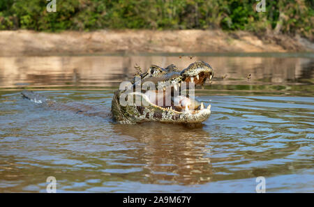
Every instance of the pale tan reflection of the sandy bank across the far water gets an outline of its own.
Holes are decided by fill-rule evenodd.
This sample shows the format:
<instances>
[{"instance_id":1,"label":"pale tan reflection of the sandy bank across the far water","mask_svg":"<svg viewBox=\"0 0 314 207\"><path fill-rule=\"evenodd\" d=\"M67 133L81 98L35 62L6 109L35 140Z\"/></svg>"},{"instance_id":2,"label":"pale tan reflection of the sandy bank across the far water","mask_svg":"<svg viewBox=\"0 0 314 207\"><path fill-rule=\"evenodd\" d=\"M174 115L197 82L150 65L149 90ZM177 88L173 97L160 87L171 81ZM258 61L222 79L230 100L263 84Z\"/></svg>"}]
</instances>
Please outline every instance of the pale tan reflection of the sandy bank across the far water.
<instances>
[{"instance_id":1,"label":"pale tan reflection of the sandy bank across the far water","mask_svg":"<svg viewBox=\"0 0 314 207\"><path fill-rule=\"evenodd\" d=\"M206 61L215 71L213 86L248 84L313 84L314 57L261 56L27 56L0 57L0 87L117 87L135 74L135 64L180 69ZM248 82L246 77L251 74ZM225 77L225 78L223 78Z\"/></svg>"}]
</instances>

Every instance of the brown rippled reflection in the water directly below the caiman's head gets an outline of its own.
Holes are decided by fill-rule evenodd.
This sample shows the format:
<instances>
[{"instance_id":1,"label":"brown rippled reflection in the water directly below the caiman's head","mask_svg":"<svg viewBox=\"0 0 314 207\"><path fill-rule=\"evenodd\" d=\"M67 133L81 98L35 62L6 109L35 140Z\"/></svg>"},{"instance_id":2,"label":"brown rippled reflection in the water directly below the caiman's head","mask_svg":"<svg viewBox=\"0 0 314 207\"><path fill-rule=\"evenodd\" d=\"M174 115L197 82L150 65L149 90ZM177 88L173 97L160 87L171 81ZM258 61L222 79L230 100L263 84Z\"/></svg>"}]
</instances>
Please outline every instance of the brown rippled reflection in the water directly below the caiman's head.
<instances>
[{"instance_id":1,"label":"brown rippled reflection in the water directly below the caiman's head","mask_svg":"<svg viewBox=\"0 0 314 207\"><path fill-rule=\"evenodd\" d=\"M136 152L126 151L127 159L120 164L145 163L144 176L149 183L192 185L206 183L211 178L211 162L207 157L210 134L202 128L145 123L136 130L132 125L115 125L114 133L133 137L145 146ZM134 158L134 153L140 157Z\"/></svg>"}]
</instances>

